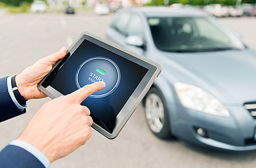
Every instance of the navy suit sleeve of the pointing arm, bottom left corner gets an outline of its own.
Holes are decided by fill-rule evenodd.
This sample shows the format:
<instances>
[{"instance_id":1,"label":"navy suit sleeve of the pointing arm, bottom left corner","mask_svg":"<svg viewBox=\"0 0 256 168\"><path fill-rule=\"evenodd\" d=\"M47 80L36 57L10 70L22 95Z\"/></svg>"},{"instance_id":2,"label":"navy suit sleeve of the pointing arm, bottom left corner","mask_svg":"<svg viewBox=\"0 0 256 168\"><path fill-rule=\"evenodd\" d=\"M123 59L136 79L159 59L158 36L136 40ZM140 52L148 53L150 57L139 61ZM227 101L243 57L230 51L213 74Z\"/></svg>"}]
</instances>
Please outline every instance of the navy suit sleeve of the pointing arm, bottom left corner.
<instances>
[{"instance_id":1,"label":"navy suit sleeve of the pointing arm, bottom left corner","mask_svg":"<svg viewBox=\"0 0 256 168\"><path fill-rule=\"evenodd\" d=\"M18 146L8 145L0 152L1 168L45 168L34 155Z\"/></svg>"}]
</instances>

